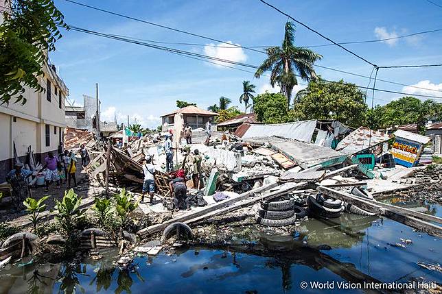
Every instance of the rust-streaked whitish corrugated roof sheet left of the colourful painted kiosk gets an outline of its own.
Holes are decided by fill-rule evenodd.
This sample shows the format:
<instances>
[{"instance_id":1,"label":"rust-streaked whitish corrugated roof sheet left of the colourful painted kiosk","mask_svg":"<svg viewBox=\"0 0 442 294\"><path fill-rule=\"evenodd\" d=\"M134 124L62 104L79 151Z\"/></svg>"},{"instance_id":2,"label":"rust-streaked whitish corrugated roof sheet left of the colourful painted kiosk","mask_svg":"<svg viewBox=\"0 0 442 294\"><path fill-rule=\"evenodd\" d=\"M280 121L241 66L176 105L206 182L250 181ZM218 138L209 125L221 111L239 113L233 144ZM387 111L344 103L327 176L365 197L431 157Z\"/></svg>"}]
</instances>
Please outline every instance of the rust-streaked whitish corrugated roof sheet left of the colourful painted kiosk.
<instances>
[{"instance_id":1,"label":"rust-streaked whitish corrugated roof sheet left of the colourful painted kiosk","mask_svg":"<svg viewBox=\"0 0 442 294\"><path fill-rule=\"evenodd\" d=\"M343 138L336 150L344 151L346 154L355 154L390 140L390 138L391 136L385 132L370 130L368 127L359 127Z\"/></svg>"}]
</instances>

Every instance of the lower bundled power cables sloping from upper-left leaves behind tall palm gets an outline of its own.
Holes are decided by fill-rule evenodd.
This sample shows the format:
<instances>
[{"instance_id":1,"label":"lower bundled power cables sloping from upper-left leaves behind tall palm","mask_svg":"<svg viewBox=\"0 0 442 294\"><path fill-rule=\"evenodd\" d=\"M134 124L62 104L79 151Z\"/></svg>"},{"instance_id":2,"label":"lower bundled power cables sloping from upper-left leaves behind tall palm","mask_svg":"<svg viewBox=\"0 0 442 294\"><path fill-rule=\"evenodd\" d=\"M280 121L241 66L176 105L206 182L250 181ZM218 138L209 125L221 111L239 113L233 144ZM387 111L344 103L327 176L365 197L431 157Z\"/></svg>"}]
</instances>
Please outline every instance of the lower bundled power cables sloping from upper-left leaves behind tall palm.
<instances>
[{"instance_id":1,"label":"lower bundled power cables sloping from upper-left leaves behind tall palm","mask_svg":"<svg viewBox=\"0 0 442 294\"><path fill-rule=\"evenodd\" d=\"M214 60L214 61L218 61L218 62L226 62L226 63L229 63L229 64L238 65L238 66L246 66L248 68L253 68L253 69L258 69L259 68L259 66L256 66L256 65L253 65L253 64L245 64L245 63L242 63L242 62L235 62L235 61L232 61L232 60L225 60L225 59L222 59L222 58L213 58L211 56L205 56L203 54L192 53L192 52L188 52L188 51L183 51L183 50L178 50L178 49L173 49L173 48L168 48L168 47L152 45L152 44L148 44L148 43L145 43L145 42L139 42L139 41L135 41L135 40L130 40L128 38L115 37L115 36L111 36L109 34L103 34L103 33L99 33L99 32L94 32L94 31L91 31L89 29L81 29L79 27L75 27L75 26L71 26L71 25L69 25L69 27L70 27L71 30L74 30L74 31L77 31L77 32L83 32L85 34L92 34L92 35L95 35L95 36L102 36L104 38L110 38L110 39L113 39L113 40L119 40L121 42L130 42L130 43L133 43L133 44L136 44L136 45L142 45L142 46L150 47L150 48L153 48L153 49L159 49L159 50L167 51L167 52L174 53L174 54L177 54L177 55L180 55L180 56L186 56L186 57L191 57L193 59L202 60L202 61L205 61L205 62L207 62L207 60L205 60L205 59L209 59L209 60ZM210 63L218 64L218 62L210 62ZM219 65L222 65L222 64L219 64ZM224 65L222 65L222 66L224 66ZM226 66L226 67L233 68L233 66ZM233 69L236 69L236 68L233 68ZM240 70L242 70L242 69L240 69ZM247 72L250 72L250 71L247 71ZM253 72L250 72L250 73L253 73ZM299 77L299 75L296 75L296 76ZM348 83L345 83L345 82L329 81L327 79L322 79L322 80L325 81L325 82L331 82L331 83L334 83L334 84L348 84ZM400 94L400 95L410 95L410 96L416 96L416 97L427 97L427 98L432 98L432 99L442 99L442 97L439 97L439 96L410 94L410 93L403 93L403 92L393 91L393 90L369 88L369 87L358 86L358 85L356 85L356 86L358 88L367 89L367 90L376 90L376 91L384 92L384 93L394 93L394 94Z\"/></svg>"}]
</instances>

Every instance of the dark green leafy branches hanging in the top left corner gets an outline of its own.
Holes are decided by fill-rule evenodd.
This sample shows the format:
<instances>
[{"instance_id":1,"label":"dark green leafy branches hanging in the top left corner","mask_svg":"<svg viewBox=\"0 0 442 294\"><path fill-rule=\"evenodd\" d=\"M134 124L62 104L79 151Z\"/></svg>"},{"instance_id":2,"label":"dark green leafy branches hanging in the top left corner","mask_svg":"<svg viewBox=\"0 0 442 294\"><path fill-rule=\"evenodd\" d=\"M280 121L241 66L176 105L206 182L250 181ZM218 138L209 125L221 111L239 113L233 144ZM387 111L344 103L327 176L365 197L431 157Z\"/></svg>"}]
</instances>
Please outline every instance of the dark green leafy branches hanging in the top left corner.
<instances>
[{"instance_id":1,"label":"dark green leafy branches hanging in the top left corner","mask_svg":"<svg viewBox=\"0 0 442 294\"><path fill-rule=\"evenodd\" d=\"M44 88L38 84L43 75L42 65L47 64L47 51L55 50L55 42L61 38L57 26L67 27L63 14L53 0L7 0L0 25L0 99L9 103L26 103L25 87L38 92Z\"/></svg>"}]
</instances>

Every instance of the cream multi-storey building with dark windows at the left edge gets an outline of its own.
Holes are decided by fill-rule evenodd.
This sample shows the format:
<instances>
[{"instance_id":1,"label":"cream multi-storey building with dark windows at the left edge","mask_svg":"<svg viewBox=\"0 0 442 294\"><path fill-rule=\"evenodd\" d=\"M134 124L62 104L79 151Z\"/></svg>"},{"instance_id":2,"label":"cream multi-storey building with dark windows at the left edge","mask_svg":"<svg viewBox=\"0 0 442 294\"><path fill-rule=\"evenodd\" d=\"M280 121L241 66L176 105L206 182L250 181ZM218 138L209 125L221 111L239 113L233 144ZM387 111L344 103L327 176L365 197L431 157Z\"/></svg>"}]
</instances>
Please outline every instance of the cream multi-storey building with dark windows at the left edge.
<instances>
[{"instance_id":1,"label":"cream multi-storey building with dark windows at the left edge","mask_svg":"<svg viewBox=\"0 0 442 294\"><path fill-rule=\"evenodd\" d=\"M14 143L21 162L27 162L28 147L34 151L36 160L42 162L49 151L57 153L62 142L69 90L54 65L44 64L43 73L38 83L45 92L25 87L24 105L14 103L14 97L9 105L0 105L0 182L4 182L6 173L12 169Z\"/></svg>"}]
</instances>

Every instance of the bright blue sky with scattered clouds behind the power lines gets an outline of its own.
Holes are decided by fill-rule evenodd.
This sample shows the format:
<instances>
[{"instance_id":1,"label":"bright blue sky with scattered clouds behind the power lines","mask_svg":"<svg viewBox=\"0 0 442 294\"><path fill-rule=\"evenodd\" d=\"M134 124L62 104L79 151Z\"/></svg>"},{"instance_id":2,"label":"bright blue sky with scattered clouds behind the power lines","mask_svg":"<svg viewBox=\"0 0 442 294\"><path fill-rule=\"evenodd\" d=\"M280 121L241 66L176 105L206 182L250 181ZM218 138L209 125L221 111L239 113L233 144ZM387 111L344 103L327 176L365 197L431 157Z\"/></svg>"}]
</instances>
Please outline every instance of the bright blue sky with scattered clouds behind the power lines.
<instances>
[{"instance_id":1,"label":"bright blue sky with scattered clouds behind the power lines","mask_svg":"<svg viewBox=\"0 0 442 294\"><path fill-rule=\"evenodd\" d=\"M242 46L280 45L287 21L286 16L258 0L78 1ZM337 42L373 40L442 28L442 8L426 0L268 1ZM434 1L442 5L442 0ZM265 54L246 49L205 47L226 45L90 10L65 0L56 0L56 5L65 14L65 21L77 27L162 42L197 43L202 46L165 46L248 64L259 65L266 57ZM327 43L299 26L296 26L295 37L300 46ZM345 47L377 65L441 63L442 32ZM63 32L63 38L56 43L56 48L50 58L69 87L71 101L75 100L75 104L81 105L82 94L95 95L95 83L99 83L102 119L106 120L113 120L116 116L119 122L126 121L125 118L130 115L131 123L137 119L144 126L156 126L160 123L161 114L176 108L177 99L207 108L224 96L244 110L244 104L239 103L243 80L255 84L258 93L276 91L270 88L266 77L255 79L252 73L80 32ZM320 65L361 75L371 73L369 64L336 46L314 50L323 55L321 62L318 62ZM369 80L363 77L319 68L316 71L326 79L344 79L362 86L369 84ZM380 69L377 77L442 90L441 67ZM305 84L301 80L299 83ZM377 82L376 86L442 97L442 92L404 88L384 82ZM295 92L301 87L296 87ZM398 97L402 95L376 92L375 103L385 104Z\"/></svg>"}]
</instances>

